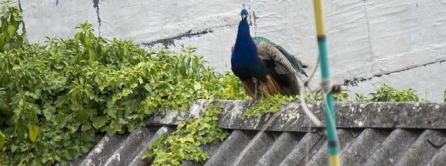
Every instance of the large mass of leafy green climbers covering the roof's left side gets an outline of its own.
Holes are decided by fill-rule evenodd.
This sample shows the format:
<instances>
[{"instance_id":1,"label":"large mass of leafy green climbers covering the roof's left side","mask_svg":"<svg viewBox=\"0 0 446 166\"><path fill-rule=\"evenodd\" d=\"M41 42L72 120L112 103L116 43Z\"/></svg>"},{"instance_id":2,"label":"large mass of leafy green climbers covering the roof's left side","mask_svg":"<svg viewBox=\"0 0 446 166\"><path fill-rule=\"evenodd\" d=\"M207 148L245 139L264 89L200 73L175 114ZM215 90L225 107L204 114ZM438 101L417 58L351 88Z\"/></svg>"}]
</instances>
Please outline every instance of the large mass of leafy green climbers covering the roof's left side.
<instances>
[{"instance_id":1,"label":"large mass of leafy green climbers covering the roof's left side","mask_svg":"<svg viewBox=\"0 0 446 166\"><path fill-rule=\"evenodd\" d=\"M235 76L205 66L195 48L148 52L97 37L88 22L76 29L74 39L0 53L0 165L63 165L104 132L131 132L155 112L246 98Z\"/></svg>"}]
</instances>

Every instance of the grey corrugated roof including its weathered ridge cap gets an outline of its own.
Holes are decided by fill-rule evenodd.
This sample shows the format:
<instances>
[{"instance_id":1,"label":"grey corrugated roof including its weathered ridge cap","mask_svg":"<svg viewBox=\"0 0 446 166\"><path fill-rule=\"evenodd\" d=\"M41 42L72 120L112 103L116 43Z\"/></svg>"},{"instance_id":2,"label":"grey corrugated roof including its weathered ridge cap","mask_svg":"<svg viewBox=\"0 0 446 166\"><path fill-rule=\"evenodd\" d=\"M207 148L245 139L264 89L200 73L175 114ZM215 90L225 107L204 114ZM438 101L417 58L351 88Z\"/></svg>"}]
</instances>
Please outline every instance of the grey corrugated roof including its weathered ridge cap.
<instances>
[{"instance_id":1,"label":"grey corrugated roof including its weathered ridge cap","mask_svg":"<svg viewBox=\"0 0 446 166\"><path fill-rule=\"evenodd\" d=\"M183 165L327 165L324 130L312 128L308 131L303 127L308 125L306 116L297 104L283 107L285 111L280 112L263 133L258 130L272 114L244 117L241 115L246 106L243 102L219 101L217 104L223 106L219 123L230 131L230 135L221 143L202 147L210 156L206 163L185 162ZM141 160L150 144L173 131L176 124L200 116L207 105L207 101L199 100L190 111L154 115L147 120L147 127L138 128L131 134L105 136L84 159L72 165L150 165L151 159ZM313 103L309 106L323 119L320 105ZM445 104L336 103L335 108L343 166L446 165ZM377 119L383 114L387 118Z\"/></svg>"}]
</instances>

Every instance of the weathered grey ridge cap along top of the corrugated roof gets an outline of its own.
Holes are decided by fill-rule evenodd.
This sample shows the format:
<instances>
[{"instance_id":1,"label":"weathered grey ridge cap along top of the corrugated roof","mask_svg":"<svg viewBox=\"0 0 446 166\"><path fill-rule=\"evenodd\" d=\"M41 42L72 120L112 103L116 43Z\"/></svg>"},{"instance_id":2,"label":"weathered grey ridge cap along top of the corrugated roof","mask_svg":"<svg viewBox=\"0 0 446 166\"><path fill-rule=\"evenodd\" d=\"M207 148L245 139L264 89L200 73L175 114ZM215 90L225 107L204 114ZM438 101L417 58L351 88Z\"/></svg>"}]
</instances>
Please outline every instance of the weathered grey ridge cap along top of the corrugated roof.
<instances>
[{"instance_id":1,"label":"weathered grey ridge cap along top of the corrugated roof","mask_svg":"<svg viewBox=\"0 0 446 166\"><path fill-rule=\"evenodd\" d=\"M322 102L309 103L308 109L321 121L325 121ZM156 113L147 119L147 124L177 125L187 119L199 117L209 105L207 100L197 100L189 111ZM220 127L239 130L260 130L274 113L244 116L248 106L244 101L215 101L223 107ZM335 102L337 128L419 128L446 129L445 103L389 103L389 102ZM311 126L300 104L283 105L279 115L267 131L307 132Z\"/></svg>"}]
</instances>

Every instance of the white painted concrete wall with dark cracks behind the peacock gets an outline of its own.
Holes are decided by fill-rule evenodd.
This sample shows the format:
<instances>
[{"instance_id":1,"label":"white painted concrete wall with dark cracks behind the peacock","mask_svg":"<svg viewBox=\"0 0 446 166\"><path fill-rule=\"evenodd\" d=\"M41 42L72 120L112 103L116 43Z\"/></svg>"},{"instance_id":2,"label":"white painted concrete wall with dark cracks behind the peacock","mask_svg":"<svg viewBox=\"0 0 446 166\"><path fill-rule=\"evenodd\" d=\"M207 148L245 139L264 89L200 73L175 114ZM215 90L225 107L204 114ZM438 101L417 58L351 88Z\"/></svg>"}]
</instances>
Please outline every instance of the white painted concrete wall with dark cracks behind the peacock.
<instances>
[{"instance_id":1,"label":"white painted concrete wall with dark cracks behind the peacock","mask_svg":"<svg viewBox=\"0 0 446 166\"><path fill-rule=\"evenodd\" d=\"M446 0L324 0L335 84L370 93L390 84L430 101L446 89ZM311 0L246 0L252 35L295 54L310 70L317 59ZM88 20L97 34L146 48L198 47L221 71L230 69L239 0L21 0L31 42L70 37ZM255 15L255 17L254 17ZM100 20L100 21L99 21ZM319 77L314 84L319 82ZM354 85L351 85L351 84ZM315 85L313 85L315 86Z\"/></svg>"}]
</instances>

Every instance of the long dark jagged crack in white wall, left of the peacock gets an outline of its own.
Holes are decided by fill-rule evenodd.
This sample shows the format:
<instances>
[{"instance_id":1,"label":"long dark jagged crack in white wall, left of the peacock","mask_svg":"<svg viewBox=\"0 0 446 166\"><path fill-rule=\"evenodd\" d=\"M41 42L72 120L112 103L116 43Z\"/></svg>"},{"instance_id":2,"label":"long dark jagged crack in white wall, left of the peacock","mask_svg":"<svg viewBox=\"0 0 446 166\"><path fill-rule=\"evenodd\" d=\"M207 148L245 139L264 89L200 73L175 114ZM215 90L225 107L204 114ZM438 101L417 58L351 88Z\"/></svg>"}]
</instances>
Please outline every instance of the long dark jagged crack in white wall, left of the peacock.
<instances>
[{"instance_id":1,"label":"long dark jagged crack in white wall, left of the peacock","mask_svg":"<svg viewBox=\"0 0 446 166\"><path fill-rule=\"evenodd\" d=\"M165 48L167 48L167 46L170 46L170 45L175 46L175 40L181 40L181 39L184 39L184 38L191 38L193 36L201 36L201 35L204 35L204 34L207 34L207 33L212 33L212 32L214 32L212 29L206 29L204 31L199 31L199 32L192 33L192 29L191 29L191 30L189 30L189 31L179 35L179 36L174 36L174 37L167 38L167 39L161 39L161 40L157 40L157 41L153 41L153 42L149 42L149 43L142 43L142 44L140 44L138 46L153 47L156 44L160 44L161 43Z\"/></svg>"}]
</instances>

